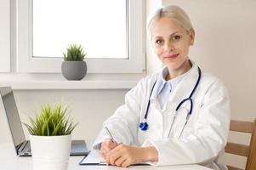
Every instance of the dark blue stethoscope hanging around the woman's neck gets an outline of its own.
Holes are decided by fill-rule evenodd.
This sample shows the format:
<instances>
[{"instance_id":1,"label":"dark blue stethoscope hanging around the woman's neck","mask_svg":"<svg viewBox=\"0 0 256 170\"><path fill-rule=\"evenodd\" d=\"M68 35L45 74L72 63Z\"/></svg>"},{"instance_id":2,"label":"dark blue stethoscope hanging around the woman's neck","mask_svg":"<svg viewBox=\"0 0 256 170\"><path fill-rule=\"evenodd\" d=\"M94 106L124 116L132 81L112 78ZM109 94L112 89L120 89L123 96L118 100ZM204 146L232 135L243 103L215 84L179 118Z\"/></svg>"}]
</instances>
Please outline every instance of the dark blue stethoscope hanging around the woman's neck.
<instances>
[{"instance_id":1,"label":"dark blue stethoscope hanging around the woman's neck","mask_svg":"<svg viewBox=\"0 0 256 170\"><path fill-rule=\"evenodd\" d=\"M189 118L190 118L190 116L191 116L191 114L192 114L192 111L193 111L193 99L192 99L192 96L193 96L193 94L195 93L196 88L198 87L198 84L199 84L199 82L200 82L200 80L201 80L201 74L202 74L202 73L201 73L201 69L200 69L199 67L197 67L197 70L198 70L198 78L197 78L195 87L194 87L193 90L191 91L190 96L189 96L188 98L183 99L183 100L179 103L179 105L176 107L176 110L175 110L175 111L178 111L181 105L183 105L186 101L190 101L191 108L190 108L190 110L188 111L188 113L187 113L187 115L186 115L186 122L185 122L185 125L186 125L186 123L188 122L188 120L189 120ZM157 79L156 79L156 81L157 81ZM151 88L151 94L152 94L152 92L153 92L153 90L154 90L154 88L155 88L156 81L154 82L153 87ZM146 107L146 111L145 111L144 120L143 120L143 122L140 122L140 123L139 123L139 128L140 128L142 131L146 131L146 130L148 129L148 127L149 127L148 123L146 122L146 118L147 118L147 116L148 116L148 112L149 112L149 109L150 109L150 106L151 106L151 94L150 94L150 97L149 97L149 100L148 100L148 103L147 103L147 107ZM174 121L175 121L175 117L176 117L176 114L175 114L175 116L174 116ZM172 125L171 125L171 128L170 128L170 129L172 129L173 124L174 124L174 121L172 122ZM184 128L185 128L185 125L184 125L184 127L182 128L181 133L183 132L183 130L184 130ZM180 133L180 134L181 134L181 133ZM179 137L180 137L180 134L179 134Z\"/></svg>"}]
</instances>

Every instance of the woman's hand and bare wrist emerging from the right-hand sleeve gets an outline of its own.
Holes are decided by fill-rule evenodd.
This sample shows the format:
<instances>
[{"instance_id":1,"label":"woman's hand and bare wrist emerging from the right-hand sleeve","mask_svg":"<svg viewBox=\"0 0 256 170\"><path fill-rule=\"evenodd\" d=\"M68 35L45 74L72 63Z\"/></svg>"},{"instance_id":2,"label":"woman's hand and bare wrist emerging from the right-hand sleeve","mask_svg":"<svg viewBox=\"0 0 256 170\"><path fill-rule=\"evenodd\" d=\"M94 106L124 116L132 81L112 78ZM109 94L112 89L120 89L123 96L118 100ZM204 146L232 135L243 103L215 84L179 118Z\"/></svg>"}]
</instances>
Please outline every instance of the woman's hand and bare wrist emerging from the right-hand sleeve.
<instances>
[{"instance_id":1,"label":"woman's hand and bare wrist emerging from the right-hand sleeve","mask_svg":"<svg viewBox=\"0 0 256 170\"><path fill-rule=\"evenodd\" d=\"M117 147L105 155L105 160L108 164L117 167L128 167L145 161L157 161L158 152L153 146L137 147L118 144Z\"/></svg>"}]
</instances>

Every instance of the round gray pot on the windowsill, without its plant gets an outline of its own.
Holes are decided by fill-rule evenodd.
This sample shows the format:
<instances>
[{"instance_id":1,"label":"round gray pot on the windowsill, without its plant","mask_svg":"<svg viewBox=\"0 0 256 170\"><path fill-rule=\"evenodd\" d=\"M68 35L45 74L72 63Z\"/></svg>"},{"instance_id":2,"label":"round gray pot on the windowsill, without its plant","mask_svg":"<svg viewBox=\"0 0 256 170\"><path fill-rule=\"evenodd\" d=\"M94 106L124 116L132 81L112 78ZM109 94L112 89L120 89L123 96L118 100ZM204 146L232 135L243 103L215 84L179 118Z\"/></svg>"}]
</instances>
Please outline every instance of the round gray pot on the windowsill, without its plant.
<instances>
[{"instance_id":1,"label":"round gray pot on the windowsill, without its plant","mask_svg":"<svg viewBox=\"0 0 256 170\"><path fill-rule=\"evenodd\" d=\"M85 61L63 61L61 72L67 80L81 80L86 75L87 65Z\"/></svg>"}]
</instances>

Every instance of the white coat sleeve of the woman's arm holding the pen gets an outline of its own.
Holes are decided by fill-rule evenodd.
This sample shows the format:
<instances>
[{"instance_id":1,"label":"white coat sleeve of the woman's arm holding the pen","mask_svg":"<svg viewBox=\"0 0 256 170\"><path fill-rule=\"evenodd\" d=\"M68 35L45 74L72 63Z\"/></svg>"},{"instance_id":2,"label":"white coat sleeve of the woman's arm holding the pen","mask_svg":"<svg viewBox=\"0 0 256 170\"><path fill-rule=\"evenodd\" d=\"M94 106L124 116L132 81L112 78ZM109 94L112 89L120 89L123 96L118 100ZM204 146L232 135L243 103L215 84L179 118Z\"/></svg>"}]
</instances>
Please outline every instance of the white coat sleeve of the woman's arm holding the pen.
<instances>
[{"instance_id":1,"label":"white coat sleeve of the woman's arm holding the pen","mask_svg":"<svg viewBox=\"0 0 256 170\"><path fill-rule=\"evenodd\" d=\"M117 108L117 111L103 123L103 127L107 126L109 128L117 143L135 144L137 141L139 113L144 96L144 79L128 91L125 95L125 104ZM110 137L102 128L98 138L94 141L94 150L99 150L100 144L105 139L110 139Z\"/></svg>"}]
</instances>

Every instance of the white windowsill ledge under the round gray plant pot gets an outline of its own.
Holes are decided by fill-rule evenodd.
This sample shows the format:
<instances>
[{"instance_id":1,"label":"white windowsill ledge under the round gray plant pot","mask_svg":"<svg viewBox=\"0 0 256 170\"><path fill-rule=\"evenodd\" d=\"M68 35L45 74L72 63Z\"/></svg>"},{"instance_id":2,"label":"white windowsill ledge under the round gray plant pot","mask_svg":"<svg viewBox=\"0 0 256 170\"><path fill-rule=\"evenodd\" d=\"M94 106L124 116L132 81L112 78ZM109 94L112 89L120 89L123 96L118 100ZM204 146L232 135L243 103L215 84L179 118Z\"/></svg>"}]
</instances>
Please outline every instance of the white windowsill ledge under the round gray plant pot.
<instances>
[{"instance_id":1,"label":"white windowsill ledge under the round gray plant pot","mask_svg":"<svg viewBox=\"0 0 256 170\"><path fill-rule=\"evenodd\" d=\"M67 81L60 74L0 74L0 86L14 90L62 90L62 89L129 89L133 88L142 74L91 74L81 81Z\"/></svg>"}]
</instances>

